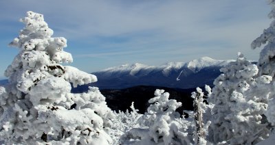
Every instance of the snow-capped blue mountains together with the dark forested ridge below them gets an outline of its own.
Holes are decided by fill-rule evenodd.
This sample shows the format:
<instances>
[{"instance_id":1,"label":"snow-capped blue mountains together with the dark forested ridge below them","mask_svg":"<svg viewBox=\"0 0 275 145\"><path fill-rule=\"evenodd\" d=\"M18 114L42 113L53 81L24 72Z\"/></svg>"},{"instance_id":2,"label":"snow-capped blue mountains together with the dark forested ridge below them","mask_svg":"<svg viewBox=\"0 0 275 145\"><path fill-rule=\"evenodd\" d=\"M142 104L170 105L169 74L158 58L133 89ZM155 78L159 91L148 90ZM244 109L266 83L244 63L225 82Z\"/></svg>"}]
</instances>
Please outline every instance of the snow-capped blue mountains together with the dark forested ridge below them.
<instances>
[{"instance_id":1,"label":"snow-capped blue mountains together with the dark forested ridge below them","mask_svg":"<svg viewBox=\"0 0 275 145\"><path fill-rule=\"evenodd\" d=\"M93 72L98 77L98 82L89 85L100 88L111 109L125 111L134 101L135 108L140 109L140 113L146 111L148 99L154 96L155 89L164 89L170 93L170 98L183 103L179 111L182 114L184 109L192 110L191 92L206 84L211 86L221 74L219 69L232 61L202 57L190 62L170 62L162 66L126 64ZM7 79L0 81L0 85L6 83ZM72 92L86 92L89 85L72 88Z\"/></svg>"}]
</instances>

